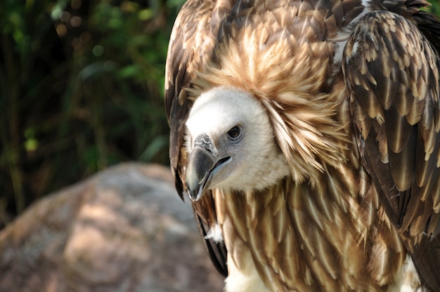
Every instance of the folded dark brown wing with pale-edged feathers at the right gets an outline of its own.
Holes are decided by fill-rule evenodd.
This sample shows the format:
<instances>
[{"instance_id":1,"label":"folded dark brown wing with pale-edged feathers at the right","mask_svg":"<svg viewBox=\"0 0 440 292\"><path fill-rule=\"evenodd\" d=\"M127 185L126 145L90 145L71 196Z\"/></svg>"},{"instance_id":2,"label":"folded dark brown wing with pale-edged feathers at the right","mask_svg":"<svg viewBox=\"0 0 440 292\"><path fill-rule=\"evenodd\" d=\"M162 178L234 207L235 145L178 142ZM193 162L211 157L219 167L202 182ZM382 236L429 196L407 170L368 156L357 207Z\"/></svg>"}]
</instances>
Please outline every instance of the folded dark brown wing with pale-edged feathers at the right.
<instances>
[{"instance_id":1,"label":"folded dark brown wing with pale-edged feathers at the right","mask_svg":"<svg viewBox=\"0 0 440 292\"><path fill-rule=\"evenodd\" d=\"M440 24L425 12L410 20L363 16L342 67L365 168L422 281L440 291Z\"/></svg>"}]
</instances>

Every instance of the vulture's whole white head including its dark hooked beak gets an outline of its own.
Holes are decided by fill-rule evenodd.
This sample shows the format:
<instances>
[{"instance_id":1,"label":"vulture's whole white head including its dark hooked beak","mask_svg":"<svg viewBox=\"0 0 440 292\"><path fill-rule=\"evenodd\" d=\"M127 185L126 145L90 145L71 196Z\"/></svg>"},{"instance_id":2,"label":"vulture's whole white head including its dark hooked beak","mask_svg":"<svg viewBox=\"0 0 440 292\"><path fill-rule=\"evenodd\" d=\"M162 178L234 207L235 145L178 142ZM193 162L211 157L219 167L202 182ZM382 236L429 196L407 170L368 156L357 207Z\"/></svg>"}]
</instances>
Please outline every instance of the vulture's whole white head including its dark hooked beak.
<instances>
[{"instance_id":1,"label":"vulture's whole white head including its dark hooked beak","mask_svg":"<svg viewBox=\"0 0 440 292\"><path fill-rule=\"evenodd\" d=\"M205 190L262 190L289 173L268 114L240 88L202 93L186 121L186 185L197 201Z\"/></svg>"}]
</instances>

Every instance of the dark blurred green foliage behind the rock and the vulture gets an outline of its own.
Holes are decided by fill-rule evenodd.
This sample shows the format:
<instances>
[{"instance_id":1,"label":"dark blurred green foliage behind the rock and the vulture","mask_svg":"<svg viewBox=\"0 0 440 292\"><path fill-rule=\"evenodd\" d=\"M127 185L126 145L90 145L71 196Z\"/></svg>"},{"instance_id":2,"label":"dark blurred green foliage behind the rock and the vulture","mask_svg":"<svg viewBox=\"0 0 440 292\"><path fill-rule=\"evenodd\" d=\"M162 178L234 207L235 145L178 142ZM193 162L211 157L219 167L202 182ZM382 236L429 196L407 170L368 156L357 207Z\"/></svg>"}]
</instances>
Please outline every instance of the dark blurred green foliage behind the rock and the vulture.
<instances>
[{"instance_id":1,"label":"dark blurred green foliage behind the rock and the vulture","mask_svg":"<svg viewBox=\"0 0 440 292\"><path fill-rule=\"evenodd\" d=\"M183 1L1 1L0 228L119 161L168 163L164 62Z\"/></svg>"}]
</instances>

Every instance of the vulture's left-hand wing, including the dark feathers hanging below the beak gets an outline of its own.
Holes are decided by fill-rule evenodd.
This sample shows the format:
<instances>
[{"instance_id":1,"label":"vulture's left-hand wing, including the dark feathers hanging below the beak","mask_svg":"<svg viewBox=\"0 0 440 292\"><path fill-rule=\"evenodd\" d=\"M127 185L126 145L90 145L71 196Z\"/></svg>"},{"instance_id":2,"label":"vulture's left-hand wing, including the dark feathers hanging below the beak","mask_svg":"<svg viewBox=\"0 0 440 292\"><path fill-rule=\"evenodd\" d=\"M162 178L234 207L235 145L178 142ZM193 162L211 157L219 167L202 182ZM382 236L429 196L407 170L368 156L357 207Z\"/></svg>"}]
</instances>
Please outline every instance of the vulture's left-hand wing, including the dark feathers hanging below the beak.
<instances>
[{"instance_id":1,"label":"vulture's left-hand wing, including the dark feathers hanging below the beak","mask_svg":"<svg viewBox=\"0 0 440 292\"><path fill-rule=\"evenodd\" d=\"M185 150L185 121L192 100L186 88L190 86L198 70L210 58L214 40L219 29L219 21L231 9L229 1L216 4L215 1L187 1L176 18L169 41L167 65L165 68L165 107L170 126L170 164L176 190L183 199L186 192L185 167L188 159ZM193 202L195 218L202 237L206 237L210 227L216 224L214 200L205 194L198 202ZM205 239L211 259L221 274L227 274L226 248L223 244Z\"/></svg>"}]
</instances>

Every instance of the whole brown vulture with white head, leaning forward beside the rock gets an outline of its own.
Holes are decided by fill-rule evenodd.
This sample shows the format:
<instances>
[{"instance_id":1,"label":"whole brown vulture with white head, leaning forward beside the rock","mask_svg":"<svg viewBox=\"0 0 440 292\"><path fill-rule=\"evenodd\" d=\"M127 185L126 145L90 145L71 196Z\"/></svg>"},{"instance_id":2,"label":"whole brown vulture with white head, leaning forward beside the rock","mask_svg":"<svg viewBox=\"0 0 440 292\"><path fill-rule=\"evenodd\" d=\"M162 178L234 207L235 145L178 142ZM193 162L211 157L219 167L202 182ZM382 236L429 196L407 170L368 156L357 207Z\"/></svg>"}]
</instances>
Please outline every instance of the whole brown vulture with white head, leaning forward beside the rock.
<instances>
[{"instance_id":1,"label":"whole brown vulture with white head, leaning forward beside the rock","mask_svg":"<svg viewBox=\"0 0 440 292\"><path fill-rule=\"evenodd\" d=\"M226 291L440 291L440 22L426 5L183 6L170 162Z\"/></svg>"}]
</instances>

